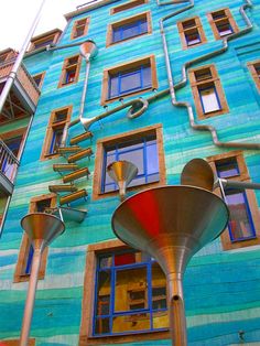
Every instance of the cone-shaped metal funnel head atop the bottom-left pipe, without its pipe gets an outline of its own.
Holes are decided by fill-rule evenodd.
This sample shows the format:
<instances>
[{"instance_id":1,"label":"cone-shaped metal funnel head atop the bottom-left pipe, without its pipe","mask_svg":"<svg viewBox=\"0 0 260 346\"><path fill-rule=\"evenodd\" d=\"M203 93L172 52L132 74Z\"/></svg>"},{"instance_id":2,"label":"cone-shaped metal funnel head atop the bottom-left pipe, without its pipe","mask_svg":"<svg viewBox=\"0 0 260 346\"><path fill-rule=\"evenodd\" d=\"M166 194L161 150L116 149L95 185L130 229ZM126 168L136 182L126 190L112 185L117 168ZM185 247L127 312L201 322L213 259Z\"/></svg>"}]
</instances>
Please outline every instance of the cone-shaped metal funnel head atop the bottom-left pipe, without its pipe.
<instances>
[{"instance_id":1,"label":"cone-shaped metal funnel head atop the bottom-left pipe, without its pipe","mask_svg":"<svg viewBox=\"0 0 260 346\"><path fill-rule=\"evenodd\" d=\"M28 234L34 249L43 250L64 230L64 223L56 216L45 213L32 213L21 219L21 226Z\"/></svg>"}]
</instances>

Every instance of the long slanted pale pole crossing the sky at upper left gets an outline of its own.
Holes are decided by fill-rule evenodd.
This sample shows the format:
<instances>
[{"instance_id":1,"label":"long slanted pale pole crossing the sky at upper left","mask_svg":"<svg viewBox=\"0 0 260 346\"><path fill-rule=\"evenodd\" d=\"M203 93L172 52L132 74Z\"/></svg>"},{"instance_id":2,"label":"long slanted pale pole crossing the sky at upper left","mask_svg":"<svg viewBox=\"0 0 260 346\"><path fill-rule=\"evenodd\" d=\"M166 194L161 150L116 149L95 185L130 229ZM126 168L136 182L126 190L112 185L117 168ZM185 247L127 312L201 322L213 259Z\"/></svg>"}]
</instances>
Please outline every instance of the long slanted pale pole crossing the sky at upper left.
<instances>
[{"instance_id":1,"label":"long slanted pale pole crossing the sky at upper left","mask_svg":"<svg viewBox=\"0 0 260 346\"><path fill-rule=\"evenodd\" d=\"M2 112L4 102L6 102L7 97L8 97L9 93L10 93L10 90L11 90L13 82L17 78L17 73L18 73L18 69L19 69L21 63L22 63L22 60L23 60L23 56L24 56L24 54L26 52L28 45L29 45L29 43L30 43L30 41L32 39L32 35L33 35L36 26L37 26L37 23L40 21L42 9L43 9L43 6L44 6L45 1L46 0L42 1L41 7L39 9L39 12L37 12L35 19L34 19L34 21L32 23L32 26L31 26L29 33L28 33L28 36L26 36L26 39L25 39L25 41L24 41L24 43L23 43L23 45L22 45L22 47L20 50L20 53L18 54L18 57L15 60L15 63L14 63L13 67L12 67L12 71L10 72L10 74L9 74L9 76L7 78L4 87L3 87L2 93L0 95L0 113Z\"/></svg>"}]
</instances>

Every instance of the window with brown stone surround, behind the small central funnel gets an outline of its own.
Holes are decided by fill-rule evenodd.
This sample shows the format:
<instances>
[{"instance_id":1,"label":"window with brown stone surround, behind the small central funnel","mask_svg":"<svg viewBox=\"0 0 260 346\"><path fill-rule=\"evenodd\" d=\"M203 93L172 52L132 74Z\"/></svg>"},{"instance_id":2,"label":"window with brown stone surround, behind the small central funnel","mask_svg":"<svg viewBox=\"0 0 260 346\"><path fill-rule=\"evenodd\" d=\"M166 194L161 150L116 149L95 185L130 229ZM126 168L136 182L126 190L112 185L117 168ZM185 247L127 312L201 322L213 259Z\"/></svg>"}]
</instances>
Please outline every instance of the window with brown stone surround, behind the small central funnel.
<instances>
[{"instance_id":1,"label":"window with brown stone surround, behind the small central funnel","mask_svg":"<svg viewBox=\"0 0 260 346\"><path fill-rule=\"evenodd\" d=\"M129 187L161 184L165 181L161 126L100 140L96 158L94 198L118 190L106 170L115 161L126 160L138 166L138 175Z\"/></svg>"}]
</instances>

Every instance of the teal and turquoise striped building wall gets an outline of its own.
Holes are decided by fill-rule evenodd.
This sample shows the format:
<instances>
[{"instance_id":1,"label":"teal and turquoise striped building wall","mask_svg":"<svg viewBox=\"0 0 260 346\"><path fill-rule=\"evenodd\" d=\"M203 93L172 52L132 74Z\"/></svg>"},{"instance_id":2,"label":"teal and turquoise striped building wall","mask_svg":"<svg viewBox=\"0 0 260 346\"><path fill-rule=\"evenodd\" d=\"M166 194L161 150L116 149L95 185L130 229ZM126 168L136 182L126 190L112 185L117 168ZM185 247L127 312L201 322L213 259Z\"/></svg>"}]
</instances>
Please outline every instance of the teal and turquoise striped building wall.
<instances>
[{"instance_id":1,"label":"teal and turquoise striped building wall","mask_svg":"<svg viewBox=\"0 0 260 346\"><path fill-rule=\"evenodd\" d=\"M247 69L247 63L260 56L260 1L254 0L247 14L253 23L250 33L228 44L228 50L192 67L214 63L217 67L229 106L229 112L197 120L216 127L219 139L260 143L260 99L259 91ZM185 62L218 50L221 41L215 41L206 13L229 7L240 30L246 23L239 13L242 0L196 1L193 9L166 21L165 32L174 82L181 80L181 68ZM117 3L118 4L118 3ZM88 13L75 17L67 25L58 45L71 43L71 31L75 20L90 15L87 39L96 42L99 53L91 62L87 98L86 118L104 111L100 106L101 79L104 68L124 63L133 58L154 54L159 78L159 91L166 89L167 78L163 55L159 20L186 6L158 7L151 1L130 11L109 15L113 4L105 6ZM107 24L151 10L152 34L106 47ZM176 21L199 15L207 37L207 43L189 50L182 50ZM77 39L83 42L84 39ZM76 42L76 40L74 41ZM13 273L22 238L20 219L28 213L30 198L48 193L48 185L59 184L61 176L53 172L53 163L65 163L63 158L40 161L45 129L51 111L61 107L73 106L72 119L77 119L86 64L83 62L77 84L57 88L63 62L78 53L78 47L45 52L25 58L32 75L46 71L41 98L26 141L21 161L14 194L12 196L3 235L0 240L0 338L17 338L20 334L28 283L13 283ZM149 91L143 98L151 96ZM127 98L130 99L131 97ZM191 85L176 91L177 100L189 101L194 107ZM108 109L118 106L109 105ZM110 220L118 197L93 201L93 172L95 169L96 142L102 138L162 123L163 144L166 164L167 184L178 184L184 164L194 158L206 158L225 153L228 149L214 145L209 132L191 129L184 108L173 107L170 96L164 96L149 106L144 115L134 120L126 117L126 110L119 111L91 127L94 155L88 165L89 180L80 180L77 185L88 191L87 202L80 201L79 208L87 208L88 215L82 224L66 223L66 231L50 247L46 275L39 282L36 303L32 322L31 336L36 337L36 345L77 345L82 315L83 282L86 250L89 244L113 239ZM83 132L80 125L69 131L69 137ZM89 145L86 141L82 145ZM229 149L231 150L231 149ZM245 150L245 160L251 179L260 182L260 153ZM137 190L138 191L138 190ZM131 192L131 194L137 191ZM260 202L260 193L256 192ZM260 343L260 251L259 247L241 250L223 251L220 239L201 250L191 261L184 279L188 345L218 346L240 345L238 331L246 332L247 345ZM131 345L151 345L151 342ZM170 340L154 342L154 345L170 345Z\"/></svg>"}]
</instances>

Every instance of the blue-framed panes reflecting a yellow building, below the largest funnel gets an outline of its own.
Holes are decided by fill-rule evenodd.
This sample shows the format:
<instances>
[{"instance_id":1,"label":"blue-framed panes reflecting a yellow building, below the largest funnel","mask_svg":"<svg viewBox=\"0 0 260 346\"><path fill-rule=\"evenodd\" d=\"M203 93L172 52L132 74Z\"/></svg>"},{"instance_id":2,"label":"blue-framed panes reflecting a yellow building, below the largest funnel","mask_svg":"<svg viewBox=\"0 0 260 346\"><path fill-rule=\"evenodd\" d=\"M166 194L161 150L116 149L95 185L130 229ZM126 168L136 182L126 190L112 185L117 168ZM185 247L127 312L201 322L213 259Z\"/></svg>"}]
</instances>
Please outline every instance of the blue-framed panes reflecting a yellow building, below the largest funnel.
<instances>
[{"instance_id":1,"label":"blue-framed panes reflecting a yellow building, below the largest funnel","mask_svg":"<svg viewBox=\"0 0 260 346\"><path fill-rule=\"evenodd\" d=\"M166 281L144 252L123 250L97 258L94 336L165 331Z\"/></svg>"}]
</instances>

